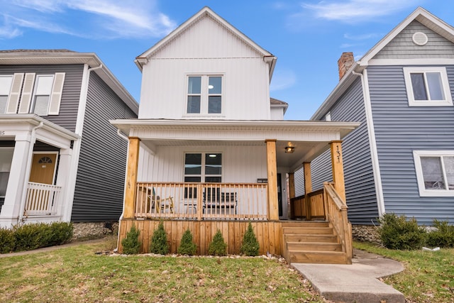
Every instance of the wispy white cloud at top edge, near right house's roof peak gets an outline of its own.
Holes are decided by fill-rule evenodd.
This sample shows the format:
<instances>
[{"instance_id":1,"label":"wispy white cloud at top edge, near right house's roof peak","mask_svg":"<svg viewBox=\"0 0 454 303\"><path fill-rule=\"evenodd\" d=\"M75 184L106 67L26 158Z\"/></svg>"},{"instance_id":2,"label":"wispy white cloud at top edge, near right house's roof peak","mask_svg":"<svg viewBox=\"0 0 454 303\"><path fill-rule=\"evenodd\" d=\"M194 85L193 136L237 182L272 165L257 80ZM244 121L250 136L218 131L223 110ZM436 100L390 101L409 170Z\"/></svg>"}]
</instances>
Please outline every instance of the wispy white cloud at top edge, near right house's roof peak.
<instances>
[{"instance_id":1,"label":"wispy white cloud at top edge, near right house's roof peak","mask_svg":"<svg viewBox=\"0 0 454 303\"><path fill-rule=\"evenodd\" d=\"M347 0L320 1L318 4L301 4L315 18L355 23L387 16L402 9L415 7L419 0Z\"/></svg>"}]
</instances>

